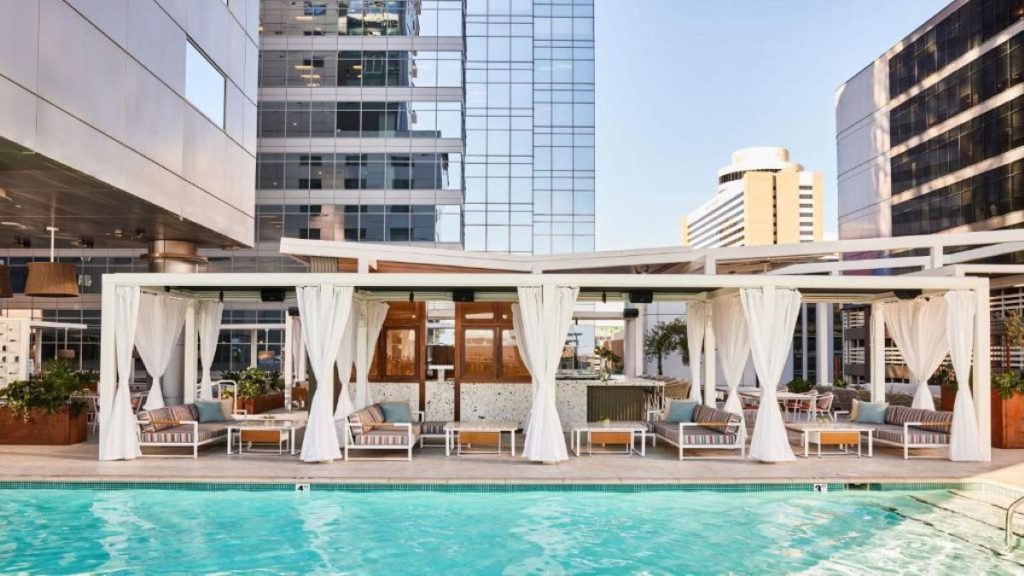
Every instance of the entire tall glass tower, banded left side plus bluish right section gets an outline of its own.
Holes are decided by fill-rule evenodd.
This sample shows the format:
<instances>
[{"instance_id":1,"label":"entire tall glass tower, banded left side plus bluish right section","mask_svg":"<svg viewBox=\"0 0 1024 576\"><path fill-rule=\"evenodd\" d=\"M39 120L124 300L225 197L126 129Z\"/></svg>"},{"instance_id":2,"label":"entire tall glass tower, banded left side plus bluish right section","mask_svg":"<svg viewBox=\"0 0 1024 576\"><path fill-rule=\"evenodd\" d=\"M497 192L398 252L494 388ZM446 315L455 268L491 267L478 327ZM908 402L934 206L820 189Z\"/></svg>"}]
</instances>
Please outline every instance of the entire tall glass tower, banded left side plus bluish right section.
<instances>
[{"instance_id":1,"label":"entire tall glass tower, banded left side plus bluish right section","mask_svg":"<svg viewBox=\"0 0 1024 576\"><path fill-rule=\"evenodd\" d=\"M594 249L593 0L263 0L260 16L258 268L276 270L282 236Z\"/></svg>"}]
</instances>

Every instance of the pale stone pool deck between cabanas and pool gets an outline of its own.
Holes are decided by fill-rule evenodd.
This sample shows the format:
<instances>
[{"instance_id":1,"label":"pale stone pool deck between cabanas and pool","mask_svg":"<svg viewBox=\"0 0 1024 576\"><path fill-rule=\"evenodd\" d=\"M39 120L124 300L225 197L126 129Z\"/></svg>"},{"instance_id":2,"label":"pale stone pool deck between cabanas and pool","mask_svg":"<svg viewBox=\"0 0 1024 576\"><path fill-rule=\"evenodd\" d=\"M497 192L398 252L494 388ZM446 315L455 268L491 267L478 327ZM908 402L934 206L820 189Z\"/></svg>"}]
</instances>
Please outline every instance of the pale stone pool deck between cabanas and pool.
<instances>
[{"instance_id":1,"label":"pale stone pool deck between cabanas and pool","mask_svg":"<svg viewBox=\"0 0 1024 576\"><path fill-rule=\"evenodd\" d=\"M180 452L179 452L180 453ZM414 452L413 461L335 461L307 464L297 456L228 456L224 445L199 459L144 457L100 462L93 442L68 447L0 446L0 481L244 482L244 483L463 483L463 484L748 484L931 483L986 481L1024 490L1024 450L992 450L991 462L903 460L896 448L876 447L873 458L824 456L765 464L736 459L679 461L675 449L647 447L647 456L571 456L559 464L508 455L445 457L443 448ZM699 454L699 453L697 453ZM725 454L723 456L731 456Z\"/></svg>"}]
</instances>

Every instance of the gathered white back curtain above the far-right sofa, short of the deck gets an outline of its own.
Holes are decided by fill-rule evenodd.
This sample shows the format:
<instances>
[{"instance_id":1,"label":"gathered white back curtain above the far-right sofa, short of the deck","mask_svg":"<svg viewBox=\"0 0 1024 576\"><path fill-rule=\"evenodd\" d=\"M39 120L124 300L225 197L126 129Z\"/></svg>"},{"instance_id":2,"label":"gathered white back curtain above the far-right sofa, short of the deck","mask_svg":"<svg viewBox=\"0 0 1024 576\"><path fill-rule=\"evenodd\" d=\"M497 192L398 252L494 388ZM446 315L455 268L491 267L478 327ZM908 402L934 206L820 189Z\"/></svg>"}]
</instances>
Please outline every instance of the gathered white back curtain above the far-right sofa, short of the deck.
<instances>
[{"instance_id":1,"label":"gathered white back curtain above the far-right sofa, short of the deck","mask_svg":"<svg viewBox=\"0 0 1024 576\"><path fill-rule=\"evenodd\" d=\"M914 298L885 304L886 326L915 385L913 407L935 410L928 378L949 352L945 298ZM973 328L972 328L973 329Z\"/></svg>"}]
</instances>

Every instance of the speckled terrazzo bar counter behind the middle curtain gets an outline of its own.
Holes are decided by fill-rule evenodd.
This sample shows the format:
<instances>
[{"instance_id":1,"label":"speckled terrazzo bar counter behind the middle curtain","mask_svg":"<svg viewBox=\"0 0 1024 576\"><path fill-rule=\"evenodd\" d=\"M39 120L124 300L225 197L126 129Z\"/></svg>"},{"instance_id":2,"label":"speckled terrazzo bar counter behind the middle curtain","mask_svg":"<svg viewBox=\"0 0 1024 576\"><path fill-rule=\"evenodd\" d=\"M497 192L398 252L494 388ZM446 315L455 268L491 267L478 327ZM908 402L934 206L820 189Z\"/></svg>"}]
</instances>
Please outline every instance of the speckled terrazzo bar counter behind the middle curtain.
<instances>
[{"instance_id":1,"label":"speckled terrazzo bar counter behind the middle curtain","mask_svg":"<svg viewBox=\"0 0 1024 576\"><path fill-rule=\"evenodd\" d=\"M419 384L415 382L373 382L371 392L378 402L406 401L419 406ZM664 382L646 378L611 378L609 380L581 379L558 380L555 405L562 427L587 422L587 390L593 386L638 386L660 394ZM529 414L529 383L463 383L460 395L462 420L495 419L526 421ZM455 383L451 380L426 382L426 417L428 420L455 419Z\"/></svg>"}]
</instances>

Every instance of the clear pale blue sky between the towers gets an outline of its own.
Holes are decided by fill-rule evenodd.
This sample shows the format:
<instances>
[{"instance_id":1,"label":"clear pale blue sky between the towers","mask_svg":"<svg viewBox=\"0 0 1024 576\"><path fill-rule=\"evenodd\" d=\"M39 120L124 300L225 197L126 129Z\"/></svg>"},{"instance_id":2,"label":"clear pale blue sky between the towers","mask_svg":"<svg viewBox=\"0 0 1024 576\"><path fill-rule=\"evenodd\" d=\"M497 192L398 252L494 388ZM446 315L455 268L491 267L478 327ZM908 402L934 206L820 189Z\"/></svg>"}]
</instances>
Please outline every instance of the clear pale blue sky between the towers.
<instances>
[{"instance_id":1,"label":"clear pale blue sky between the towers","mask_svg":"<svg viewBox=\"0 0 1024 576\"><path fill-rule=\"evenodd\" d=\"M820 170L837 230L836 89L948 0L595 0L597 248L679 243L752 146Z\"/></svg>"}]
</instances>

